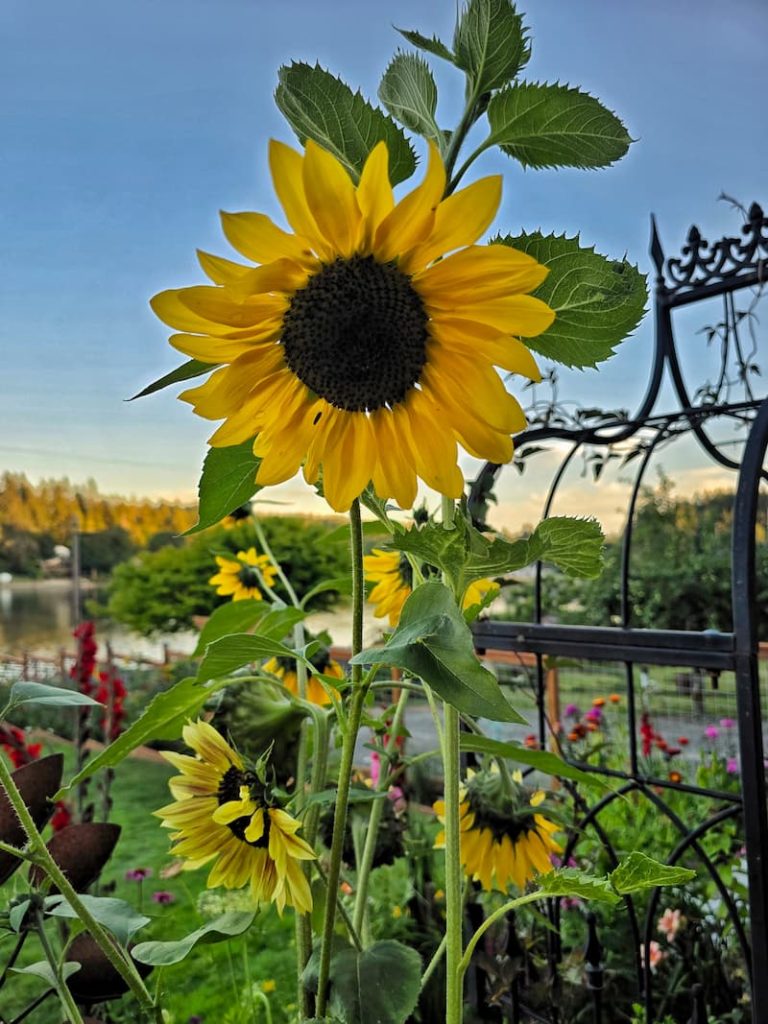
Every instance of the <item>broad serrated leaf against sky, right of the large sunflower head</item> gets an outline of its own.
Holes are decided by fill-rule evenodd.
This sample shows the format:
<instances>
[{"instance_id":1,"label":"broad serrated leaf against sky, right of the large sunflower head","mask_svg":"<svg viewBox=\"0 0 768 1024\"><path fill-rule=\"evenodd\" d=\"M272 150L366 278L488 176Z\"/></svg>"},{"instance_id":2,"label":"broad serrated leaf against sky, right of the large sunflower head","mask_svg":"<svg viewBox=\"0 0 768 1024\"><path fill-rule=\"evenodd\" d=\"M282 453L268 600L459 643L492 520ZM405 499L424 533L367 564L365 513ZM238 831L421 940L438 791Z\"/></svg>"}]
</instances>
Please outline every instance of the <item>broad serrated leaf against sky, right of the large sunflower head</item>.
<instances>
[{"instance_id":1,"label":"broad serrated leaf against sky, right of the large sunflower head","mask_svg":"<svg viewBox=\"0 0 768 1024\"><path fill-rule=\"evenodd\" d=\"M532 256L549 269L534 295L555 311L555 322L525 344L566 367L594 367L638 326L648 299L645 274L627 260L610 260L578 238L530 234L495 242Z\"/></svg>"}]
</instances>

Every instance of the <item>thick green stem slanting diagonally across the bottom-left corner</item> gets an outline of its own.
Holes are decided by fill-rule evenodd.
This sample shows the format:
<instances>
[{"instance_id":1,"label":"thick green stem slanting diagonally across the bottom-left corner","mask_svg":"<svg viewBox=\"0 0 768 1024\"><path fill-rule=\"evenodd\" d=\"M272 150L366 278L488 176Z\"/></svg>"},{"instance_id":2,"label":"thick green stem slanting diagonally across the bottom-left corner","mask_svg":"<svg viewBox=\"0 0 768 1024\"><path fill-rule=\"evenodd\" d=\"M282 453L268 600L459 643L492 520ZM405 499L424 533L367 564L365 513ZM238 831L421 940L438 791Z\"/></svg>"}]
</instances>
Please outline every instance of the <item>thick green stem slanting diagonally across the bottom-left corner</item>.
<instances>
[{"instance_id":1,"label":"thick green stem slanting diagonally across the bottom-left corner","mask_svg":"<svg viewBox=\"0 0 768 1024\"><path fill-rule=\"evenodd\" d=\"M13 777L8 771L8 767L2 758L0 758L0 787L5 790L8 801L15 811L22 827L27 833L27 838L33 854L32 858L28 856L27 859L34 858L35 862L42 867L53 885L58 889L61 896L63 896L80 921L83 923L86 930L90 932L91 938L96 943L98 948L122 977L126 985L128 985L131 992L133 992L133 995L138 1000L142 1010L146 1011L148 1014L155 1014L157 1011L156 1018L159 1019L159 1008L156 1007L153 997L146 990L146 986L141 980L141 977L139 976L139 973L133 963L129 961L127 954L124 954L123 950L112 941L109 933L102 928L101 925L99 925L90 910L88 910L73 889L67 876L50 855L50 852L45 845L45 841L40 835L32 814L30 814L27 804L24 802L24 797L18 792L18 787L13 781Z\"/></svg>"}]
</instances>

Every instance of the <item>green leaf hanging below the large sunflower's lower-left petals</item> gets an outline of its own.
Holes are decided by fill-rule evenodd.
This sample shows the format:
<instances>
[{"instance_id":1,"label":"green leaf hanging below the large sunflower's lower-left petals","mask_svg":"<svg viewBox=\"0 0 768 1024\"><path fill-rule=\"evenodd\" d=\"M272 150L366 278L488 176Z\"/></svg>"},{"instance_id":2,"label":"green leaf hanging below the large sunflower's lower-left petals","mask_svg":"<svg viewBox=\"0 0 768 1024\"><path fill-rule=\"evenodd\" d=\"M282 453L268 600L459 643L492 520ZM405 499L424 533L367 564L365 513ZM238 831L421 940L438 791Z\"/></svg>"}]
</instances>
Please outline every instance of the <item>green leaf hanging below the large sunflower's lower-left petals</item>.
<instances>
[{"instance_id":1,"label":"green leaf hanging below the large sunflower's lower-left petals","mask_svg":"<svg viewBox=\"0 0 768 1024\"><path fill-rule=\"evenodd\" d=\"M224 516L250 501L260 489L256 483L260 463L253 454L253 438L242 444L209 449L198 485L198 521L186 532L197 534L215 526Z\"/></svg>"}]
</instances>

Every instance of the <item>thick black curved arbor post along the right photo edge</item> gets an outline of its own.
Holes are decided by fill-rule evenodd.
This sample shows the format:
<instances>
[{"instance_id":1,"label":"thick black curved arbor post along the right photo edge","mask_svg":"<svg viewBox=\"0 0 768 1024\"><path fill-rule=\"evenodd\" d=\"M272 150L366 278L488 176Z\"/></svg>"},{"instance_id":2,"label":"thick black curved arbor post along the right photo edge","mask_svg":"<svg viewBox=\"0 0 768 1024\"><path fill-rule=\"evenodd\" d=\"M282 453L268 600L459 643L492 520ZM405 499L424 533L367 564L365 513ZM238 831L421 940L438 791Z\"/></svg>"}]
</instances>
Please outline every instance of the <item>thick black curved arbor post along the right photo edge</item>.
<instances>
[{"instance_id":1,"label":"thick black curved arbor post along the right photo edge","mask_svg":"<svg viewBox=\"0 0 768 1024\"><path fill-rule=\"evenodd\" d=\"M755 527L767 450L768 400L760 409L744 449L733 505L731 562L741 794L753 936L752 998L754 1007L763 1009L768 1007L768 812L757 657Z\"/></svg>"}]
</instances>

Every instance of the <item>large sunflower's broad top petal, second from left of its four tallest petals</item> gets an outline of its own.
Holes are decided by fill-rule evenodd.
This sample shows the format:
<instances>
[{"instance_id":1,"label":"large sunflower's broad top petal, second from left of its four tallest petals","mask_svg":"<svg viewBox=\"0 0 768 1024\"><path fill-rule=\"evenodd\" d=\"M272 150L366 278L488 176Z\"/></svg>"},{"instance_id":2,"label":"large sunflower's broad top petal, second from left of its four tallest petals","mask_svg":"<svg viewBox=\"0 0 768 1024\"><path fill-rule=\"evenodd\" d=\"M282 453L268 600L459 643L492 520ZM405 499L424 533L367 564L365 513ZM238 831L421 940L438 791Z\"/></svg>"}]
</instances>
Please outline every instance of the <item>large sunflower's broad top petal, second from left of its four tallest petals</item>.
<instances>
[{"instance_id":1,"label":"large sunflower's broad top petal, second from left of its four tallest petals","mask_svg":"<svg viewBox=\"0 0 768 1024\"><path fill-rule=\"evenodd\" d=\"M350 256L360 220L352 179L335 157L311 139L306 143L302 177L317 227L335 253Z\"/></svg>"}]
</instances>

